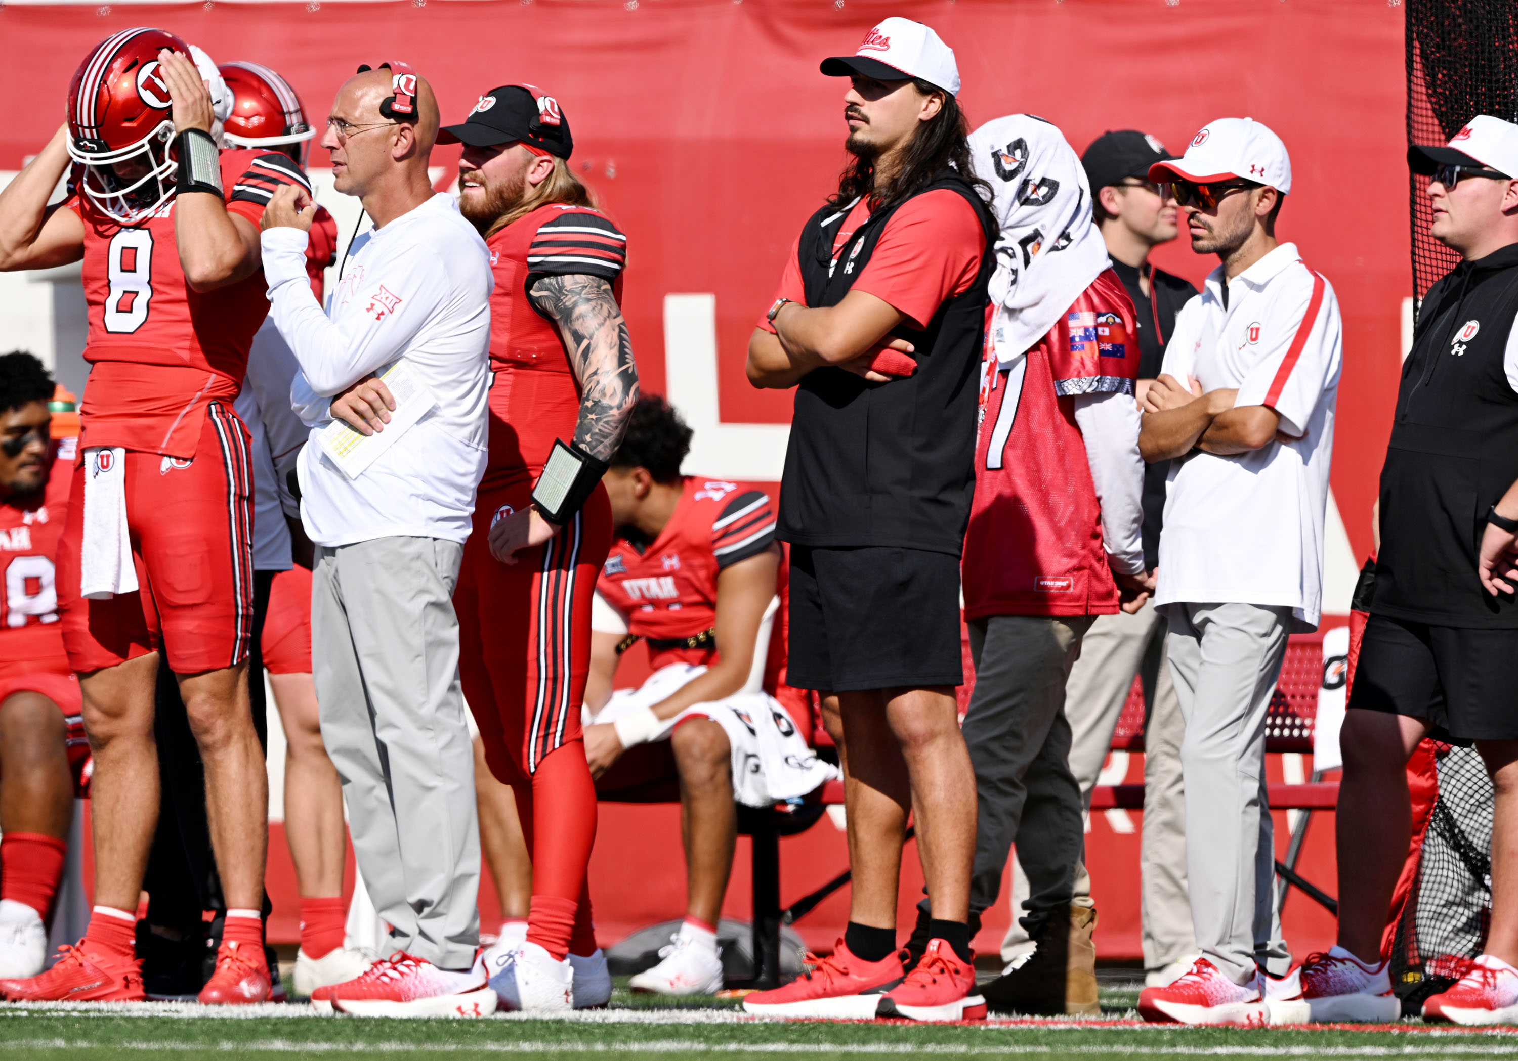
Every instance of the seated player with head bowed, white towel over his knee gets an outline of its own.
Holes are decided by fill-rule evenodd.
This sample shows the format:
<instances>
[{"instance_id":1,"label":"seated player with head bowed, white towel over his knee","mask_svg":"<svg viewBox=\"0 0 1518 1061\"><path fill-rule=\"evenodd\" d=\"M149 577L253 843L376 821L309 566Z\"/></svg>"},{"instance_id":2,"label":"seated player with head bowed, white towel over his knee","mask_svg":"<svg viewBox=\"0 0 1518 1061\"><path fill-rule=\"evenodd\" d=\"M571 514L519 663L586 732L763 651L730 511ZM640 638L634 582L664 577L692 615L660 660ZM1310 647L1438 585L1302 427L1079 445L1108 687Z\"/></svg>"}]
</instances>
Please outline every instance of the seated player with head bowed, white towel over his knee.
<instances>
[{"instance_id":1,"label":"seated player with head bowed, white towel over his knee","mask_svg":"<svg viewBox=\"0 0 1518 1061\"><path fill-rule=\"evenodd\" d=\"M759 490L682 477L689 448L691 430L663 398L638 402L603 480L619 537L597 583L586 689L586 713L598 709L584 730L592 776L650 741L669 741L680 776L686 918L663 961L631 981L656 994L723 987L716 920L733 867L733 798L770 806L832 776L792 721L805 704L788 712L767 692L795 695L780 686L783 630L770 636L783 625L776 597L786 583L774 505ZM606 698L616 642L628 636L648 641L654 672Z\"/></svg>"}]
</instances>

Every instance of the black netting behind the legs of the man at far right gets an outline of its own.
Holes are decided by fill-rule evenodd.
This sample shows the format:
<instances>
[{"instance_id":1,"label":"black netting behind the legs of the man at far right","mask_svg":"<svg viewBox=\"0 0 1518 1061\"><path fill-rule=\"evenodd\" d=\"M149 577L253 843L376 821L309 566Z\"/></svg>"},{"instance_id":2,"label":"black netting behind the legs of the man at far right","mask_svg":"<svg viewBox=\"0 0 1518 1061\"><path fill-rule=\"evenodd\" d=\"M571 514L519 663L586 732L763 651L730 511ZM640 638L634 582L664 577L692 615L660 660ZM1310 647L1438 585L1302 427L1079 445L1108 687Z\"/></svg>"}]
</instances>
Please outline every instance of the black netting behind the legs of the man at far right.
<instances>
[{"instance_id":1,"label":"black netting behind the legs of the man at far right","mask_svg":"<svg viewBox=\"0 0 1518 1061\"><path fill-rule=\"evenodd\" d=\"M1397 923L1392 984L1421 1000L1482 953L1492 912L1492 783L1474 748L1438 745L1439 795Z\"/></svg>"}]
</instances>

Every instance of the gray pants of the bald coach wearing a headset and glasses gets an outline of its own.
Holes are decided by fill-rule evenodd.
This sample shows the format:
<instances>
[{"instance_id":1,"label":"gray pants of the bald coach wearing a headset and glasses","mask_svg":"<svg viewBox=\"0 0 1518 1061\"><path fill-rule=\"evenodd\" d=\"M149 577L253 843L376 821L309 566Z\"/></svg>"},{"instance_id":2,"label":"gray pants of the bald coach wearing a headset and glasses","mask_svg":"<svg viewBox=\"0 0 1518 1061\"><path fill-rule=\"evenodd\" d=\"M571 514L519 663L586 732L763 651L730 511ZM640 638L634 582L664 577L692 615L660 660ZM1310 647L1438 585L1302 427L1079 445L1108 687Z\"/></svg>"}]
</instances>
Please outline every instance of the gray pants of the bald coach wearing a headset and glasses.
<instances>
[{"instance_id":1,"label":"gray pants of the bald coach wearing a headset and glasses","mask_svg":"<svg viewBox=\"0 0 1518 1061\"><path fill-rule=\"evenodd\" d=\"M452 604L463 546L378 537L316 556L311 677L358 870L390 952L469 968L480 830Z\"/></svg>"}]
</instances>

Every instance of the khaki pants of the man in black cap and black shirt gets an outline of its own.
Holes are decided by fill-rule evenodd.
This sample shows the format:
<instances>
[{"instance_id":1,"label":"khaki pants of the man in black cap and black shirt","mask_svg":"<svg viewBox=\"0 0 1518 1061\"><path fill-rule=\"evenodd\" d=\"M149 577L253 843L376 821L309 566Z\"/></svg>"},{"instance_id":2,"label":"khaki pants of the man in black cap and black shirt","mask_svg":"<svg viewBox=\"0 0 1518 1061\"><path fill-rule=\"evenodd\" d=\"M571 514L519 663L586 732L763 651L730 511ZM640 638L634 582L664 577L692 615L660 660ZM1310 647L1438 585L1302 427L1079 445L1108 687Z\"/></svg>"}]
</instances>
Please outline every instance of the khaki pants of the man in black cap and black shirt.
<instances>
[{"instance_id":1,"label":"khaki pants of the man in black cap and black shirt","mask_svg":"<svg viewBox=\"0 0 1518 1061\"><path fill-rule=\"evenodd\" d=\"M1070 773L1081 786L1082 804L1091 806L1091 789L1111 750L1117 718L1128 701L1134 674L1149 691L1145 724L1145 804L1140 839L1143 879L1143 958L1146 968L1160 968L1196 953L1192 906L1186 896L1186 804L1181 785L1181 738L1186 724L1164 660L1164 618L1145 603L1135 615L1099 615L1081 642L1081 657L1066 682L1064 713L1070 719ZM1002 959L1011 962L1032 950L1032 941L1017 923L1029 894L1028 874L1013 862L1013 923L1002 941ZM1091 906L1091 879L1085 865L1075 873L1076 906Z\"/></svg>"}]
</instances>

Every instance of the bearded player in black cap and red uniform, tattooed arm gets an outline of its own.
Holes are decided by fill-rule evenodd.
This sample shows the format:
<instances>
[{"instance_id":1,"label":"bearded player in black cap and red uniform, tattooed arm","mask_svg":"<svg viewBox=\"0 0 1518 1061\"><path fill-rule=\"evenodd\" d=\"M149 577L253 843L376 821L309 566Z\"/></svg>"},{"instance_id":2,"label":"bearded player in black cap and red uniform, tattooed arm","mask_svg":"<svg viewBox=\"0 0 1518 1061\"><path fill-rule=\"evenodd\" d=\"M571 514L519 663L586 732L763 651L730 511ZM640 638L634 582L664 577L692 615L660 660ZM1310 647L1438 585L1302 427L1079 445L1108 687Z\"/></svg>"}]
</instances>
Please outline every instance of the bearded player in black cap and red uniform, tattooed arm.
<instances>
[{"instance_id":1,"label":"bearded player in black cap and red uniform, tattooed arm","mask_svg":"<svg viewBox=\"0 0 1518 1061\"><path fill-rule=\"evenodd\" d=\"M536 87L490 90L437 143L465 144L458 208L495 267L490 455L454 592L458 669L533 861L527 940L486 964L502 1008L604 1005L580 704L591 597L612 546L600 480L638 399L619 305L627 237L569 170L569 121Z\"/></svg>"}]
</instances>

